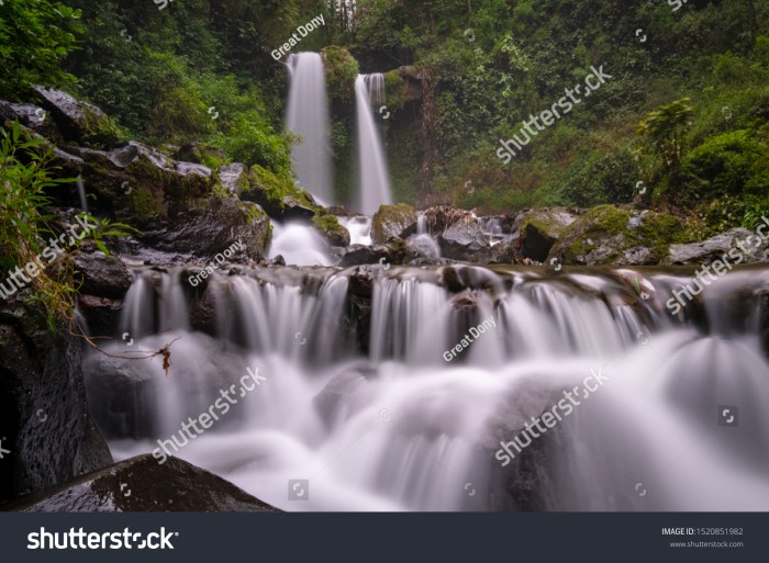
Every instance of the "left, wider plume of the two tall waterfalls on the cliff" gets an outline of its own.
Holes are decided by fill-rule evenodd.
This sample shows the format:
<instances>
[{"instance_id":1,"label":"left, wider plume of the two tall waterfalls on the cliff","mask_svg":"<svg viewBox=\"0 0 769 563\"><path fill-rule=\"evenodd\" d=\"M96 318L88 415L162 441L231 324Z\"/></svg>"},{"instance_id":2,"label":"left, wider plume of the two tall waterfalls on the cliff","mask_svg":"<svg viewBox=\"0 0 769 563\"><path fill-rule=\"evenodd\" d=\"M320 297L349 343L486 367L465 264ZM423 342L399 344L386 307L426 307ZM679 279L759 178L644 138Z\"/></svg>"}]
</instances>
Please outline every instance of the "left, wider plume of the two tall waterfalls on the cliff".
<instances>
[{"instance_id":1,"label":"left, wider plume of the two tall waterfalls on the cliff","mask_svg":"<svg viewBox=\"0 0 769 563\"><path fill-rule=\"evenodd\" d=\"M300 139L291 151L301 188L320 203L332 205L331 126L323 59L317 53L288 58L291 88L287 127Z\"/></svg>"}]
</instances>

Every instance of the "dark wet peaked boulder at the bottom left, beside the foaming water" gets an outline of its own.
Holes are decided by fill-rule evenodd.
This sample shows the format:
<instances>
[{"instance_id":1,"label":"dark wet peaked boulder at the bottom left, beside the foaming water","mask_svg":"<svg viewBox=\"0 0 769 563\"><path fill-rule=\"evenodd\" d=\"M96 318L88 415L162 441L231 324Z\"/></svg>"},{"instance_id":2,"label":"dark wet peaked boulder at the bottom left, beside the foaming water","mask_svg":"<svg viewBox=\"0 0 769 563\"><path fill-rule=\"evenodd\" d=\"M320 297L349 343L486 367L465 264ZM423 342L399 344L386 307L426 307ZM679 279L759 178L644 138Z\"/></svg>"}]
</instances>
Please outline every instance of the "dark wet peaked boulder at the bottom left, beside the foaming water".
<instances>
[{"instance_id":1,"label":"dark wet peaked boulder at the bottom left, beside the foaming water","mask_svg":"<svg viewBox=\"0 0 769 563\"><path fill-rule=\"evenodd\" d=\"M229 481L178 458L131 458L4 507L21 513L278 511ZM172 539L171 539L172 543Z\"/></svg>"}]
</instances>

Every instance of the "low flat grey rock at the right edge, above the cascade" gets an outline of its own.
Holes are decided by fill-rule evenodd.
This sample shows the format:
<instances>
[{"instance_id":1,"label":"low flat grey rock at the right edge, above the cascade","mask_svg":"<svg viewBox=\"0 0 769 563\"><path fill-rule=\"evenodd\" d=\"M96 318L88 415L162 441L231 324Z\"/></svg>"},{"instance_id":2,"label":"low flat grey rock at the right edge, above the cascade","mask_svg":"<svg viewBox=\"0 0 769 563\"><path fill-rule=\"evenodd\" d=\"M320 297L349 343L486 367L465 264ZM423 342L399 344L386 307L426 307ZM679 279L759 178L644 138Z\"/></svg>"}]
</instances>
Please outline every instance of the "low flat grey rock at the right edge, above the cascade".
<instances>
[{"instance_id":1,"label":"low flat grey rock at the right edge, above the cascade","mask_svg":"<svg viewBox=\"0 0 769 563\"><path fill-rule=\"evenodd\" d=\"M740 248L740 244L747 251ZM769 261L769 241L762 240L759 235L746 228L733 228L701 243L670 245L668 256L662 263L666 266L710 264L728 255L733 249L743 257L743 263Z\"/></svg>"}]
</instances>

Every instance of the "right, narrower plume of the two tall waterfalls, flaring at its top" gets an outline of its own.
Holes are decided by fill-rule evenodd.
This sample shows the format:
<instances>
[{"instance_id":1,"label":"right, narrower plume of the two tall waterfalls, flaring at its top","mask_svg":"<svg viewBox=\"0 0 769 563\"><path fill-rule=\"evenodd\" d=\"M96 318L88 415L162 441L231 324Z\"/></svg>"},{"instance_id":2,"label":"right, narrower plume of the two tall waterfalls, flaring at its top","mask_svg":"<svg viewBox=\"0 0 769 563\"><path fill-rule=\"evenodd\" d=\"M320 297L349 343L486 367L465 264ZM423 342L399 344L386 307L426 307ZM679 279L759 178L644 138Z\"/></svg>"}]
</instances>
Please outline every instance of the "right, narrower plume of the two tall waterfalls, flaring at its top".
<instances>
[{"instance_id":1,"label":"right, narrower plume of the two tall waterfalls, flaring at its top","mask_svg":"<svg viewBox=\"0 0 769 563\"><path fill-rule=\"evenodd\" d=\"M357 211L367 215L376 213L380 205L392 203L387 158L371 111L371 103L381 104L383 95L384 79L382 75L360 75L355 80L360 168ZM379 111L379 106L376 110Z\"/></svg>"}]
</instances>

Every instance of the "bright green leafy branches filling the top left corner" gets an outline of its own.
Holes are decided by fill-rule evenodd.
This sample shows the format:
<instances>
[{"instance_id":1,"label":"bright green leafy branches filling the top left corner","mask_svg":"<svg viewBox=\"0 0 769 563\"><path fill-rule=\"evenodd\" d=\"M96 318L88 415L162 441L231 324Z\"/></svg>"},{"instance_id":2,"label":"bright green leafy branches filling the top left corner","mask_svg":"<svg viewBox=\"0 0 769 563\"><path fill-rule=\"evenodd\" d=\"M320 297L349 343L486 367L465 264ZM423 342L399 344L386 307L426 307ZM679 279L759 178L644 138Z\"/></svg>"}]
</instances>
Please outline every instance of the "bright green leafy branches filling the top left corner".
<instances>
[{"instance_id":1,"label":"bright green leafy branches filling the top left corner","mask_svg":"<svg viewBox=\"0 0 769 563\"><path fill-rule=\"evenodd\" d=\"M29 86L62 86L75 77L62 59L82 33L80 12L49 0L4 0L0 7L0 98L19 100Z\"/></svg>"}]
</instances>

